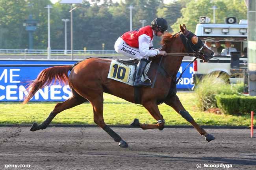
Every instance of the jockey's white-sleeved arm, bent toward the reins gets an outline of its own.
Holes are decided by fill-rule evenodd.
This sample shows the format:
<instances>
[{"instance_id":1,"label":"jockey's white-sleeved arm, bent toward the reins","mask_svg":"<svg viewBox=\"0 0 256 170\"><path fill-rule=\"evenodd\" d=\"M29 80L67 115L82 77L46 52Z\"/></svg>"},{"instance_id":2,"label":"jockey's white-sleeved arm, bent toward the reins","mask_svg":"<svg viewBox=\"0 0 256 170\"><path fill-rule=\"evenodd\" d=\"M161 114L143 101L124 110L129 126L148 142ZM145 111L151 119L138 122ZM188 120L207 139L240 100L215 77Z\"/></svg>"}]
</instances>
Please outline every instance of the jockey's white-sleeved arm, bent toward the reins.
<instances>
[{"instance_id":1,"label":"jockey's white-sleeved arm, bent toward the reins","mask_svg":"<svg viewBox=\"0 0 256 170\"><path fill-rule=\"evenodd\" d=\"M152 48L149 49L150 44L152 43L150 43L150 37L148 35L143 34L139 36L139 52L142 56L154 57L160 54L159 50L151 50Z\"/></svg>"}]
</instances>

